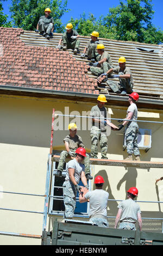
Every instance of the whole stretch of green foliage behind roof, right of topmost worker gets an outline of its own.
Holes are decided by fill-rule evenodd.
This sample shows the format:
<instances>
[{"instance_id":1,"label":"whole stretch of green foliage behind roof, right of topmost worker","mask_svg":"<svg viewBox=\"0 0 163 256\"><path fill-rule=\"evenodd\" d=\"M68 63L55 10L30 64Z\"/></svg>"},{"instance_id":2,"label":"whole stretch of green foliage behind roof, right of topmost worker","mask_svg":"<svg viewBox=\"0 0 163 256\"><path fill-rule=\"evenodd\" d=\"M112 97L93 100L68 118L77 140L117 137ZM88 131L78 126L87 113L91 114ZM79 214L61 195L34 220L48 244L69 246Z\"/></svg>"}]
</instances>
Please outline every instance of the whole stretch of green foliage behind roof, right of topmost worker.
<instances>
[{"instance_id":1,"label":"whole stretch of green foliage behind roof, right of topmost worker","mask_svg":"<svg viewBox=\"0 0 163 256\"><path fill-rule=\"evenodd\" d=\"M139 41L149 44L163 42L163 33L152 25L154 11L151 0L127 0L115 8L110 8L106 16L96 20L93 14L86 19L85 13L79 20L71 18L81 35L98 31L100 37L124 41Z\"/></svg>"}]
</instances>

